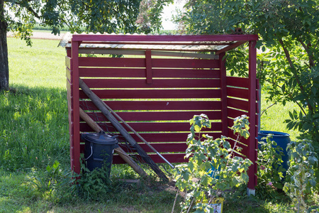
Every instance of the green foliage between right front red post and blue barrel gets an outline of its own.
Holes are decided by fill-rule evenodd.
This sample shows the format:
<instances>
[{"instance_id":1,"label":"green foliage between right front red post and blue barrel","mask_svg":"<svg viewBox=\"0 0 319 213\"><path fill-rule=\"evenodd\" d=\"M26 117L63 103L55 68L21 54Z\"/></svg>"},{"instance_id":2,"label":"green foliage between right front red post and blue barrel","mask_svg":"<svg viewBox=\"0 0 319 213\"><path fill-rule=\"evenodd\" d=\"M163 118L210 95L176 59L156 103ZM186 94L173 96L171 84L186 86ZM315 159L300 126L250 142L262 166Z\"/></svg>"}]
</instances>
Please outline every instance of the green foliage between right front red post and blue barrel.
<instances>
[{"instance_id":1,"label":"green foliage between right front red post and blue barrel","mask_svg":"<svg viewBox=\"0 0 319 213\"><path fill-rule=\"evenodd\" d=\"M259 141L260 148L258 150L258 185L257 190L265 190L274 186L278 189L282 189L284 178L284 172L286 169L283 168L282 157L284 152L280 146L277 146L275 141L271 141L272 135L268 135L266 142Z\"/></svg>"}]
</instances>

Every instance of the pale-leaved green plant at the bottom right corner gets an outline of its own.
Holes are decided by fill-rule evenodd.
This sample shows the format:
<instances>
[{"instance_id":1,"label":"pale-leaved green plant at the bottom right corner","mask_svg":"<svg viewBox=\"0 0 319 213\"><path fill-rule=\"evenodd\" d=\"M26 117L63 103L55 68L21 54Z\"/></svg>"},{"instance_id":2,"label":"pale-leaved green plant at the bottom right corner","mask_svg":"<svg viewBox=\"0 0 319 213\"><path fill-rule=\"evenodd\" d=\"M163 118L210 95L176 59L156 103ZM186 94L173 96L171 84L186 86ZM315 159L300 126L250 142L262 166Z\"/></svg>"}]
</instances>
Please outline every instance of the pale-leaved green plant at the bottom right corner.
<instances>
[{"instance_id":1,"label":"pale-leaved green plant at the bottom right corner","mask_svg":"<svg viewBox=\"0 0 319 213\"><path fill-rule=\"evenodd\" d=\"M318 165L318 158L310 141L292 141L288 144L289 163L288 170L291 181L284 185L286 192L293 203L297 204L298 212L305 212L307 204L305 197L313 193L316 185L314 166Z\"/></svg>"}]
</instances>

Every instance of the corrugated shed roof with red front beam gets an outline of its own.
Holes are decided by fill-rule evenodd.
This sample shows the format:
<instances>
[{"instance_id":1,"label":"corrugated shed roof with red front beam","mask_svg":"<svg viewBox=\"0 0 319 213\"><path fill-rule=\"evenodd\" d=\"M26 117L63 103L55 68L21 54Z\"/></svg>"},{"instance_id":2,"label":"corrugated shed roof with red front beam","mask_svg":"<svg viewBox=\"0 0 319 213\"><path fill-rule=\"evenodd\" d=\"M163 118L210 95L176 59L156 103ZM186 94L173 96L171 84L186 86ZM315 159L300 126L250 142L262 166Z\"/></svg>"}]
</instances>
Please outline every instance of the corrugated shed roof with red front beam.
<instances>
[{"instance_id":1,"label":"corrugated shed roof with red front beam","mask_svg":"<svg viewBox=\"0 0 319 213\"><path fill-rule=\"evenodd\" d=\"M237 48L257 35L145 35L66 33L59 46L71 48L72 41L81 42L79 49L87 50L170 50L218 53Z\"/></svg>"}]
</instances>

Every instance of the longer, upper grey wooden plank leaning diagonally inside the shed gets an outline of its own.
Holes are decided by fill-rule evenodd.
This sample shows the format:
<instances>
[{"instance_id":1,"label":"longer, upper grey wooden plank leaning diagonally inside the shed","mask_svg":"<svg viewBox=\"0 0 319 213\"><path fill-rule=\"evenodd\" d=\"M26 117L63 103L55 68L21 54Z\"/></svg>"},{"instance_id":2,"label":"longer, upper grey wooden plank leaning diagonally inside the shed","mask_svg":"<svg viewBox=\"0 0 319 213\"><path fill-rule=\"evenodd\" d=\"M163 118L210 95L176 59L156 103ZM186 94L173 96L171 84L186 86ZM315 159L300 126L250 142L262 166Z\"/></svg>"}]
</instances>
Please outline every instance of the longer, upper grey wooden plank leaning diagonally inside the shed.
<instances>
[{"instance_id":1,"label":"longer, upper grey wooden plank leaning diagonally inside the shed","mask_svg":"<svg viewBox=\"0 0 319 213\"><path fill-rule=\"evenodd\" d=\"M145 163L150 165L150 168L155 171L155 173L159 176L159 178L162 178L164 180L168 180L166 175L158 168L156 163L150 158L150 156L145 153L144 150L138 145L138 143L134 140L132 136L126 131L123 126L118 122L118 120L108 111L108 109L105 107L104 102L99 99L99 97L94 94L94 92L87 87L87 85L79 78L79 87L83 90L83 92L91 99L92 102L96 105L96 107L99 108L99 110L103 113L104 116L108 119L108 121L113 124L113 126L121 133L121 135L132 145L134 148L136 148L136 151L138 151L138 154L142 157L143 160L145 160Z\"/></svg>"}]
</instances>

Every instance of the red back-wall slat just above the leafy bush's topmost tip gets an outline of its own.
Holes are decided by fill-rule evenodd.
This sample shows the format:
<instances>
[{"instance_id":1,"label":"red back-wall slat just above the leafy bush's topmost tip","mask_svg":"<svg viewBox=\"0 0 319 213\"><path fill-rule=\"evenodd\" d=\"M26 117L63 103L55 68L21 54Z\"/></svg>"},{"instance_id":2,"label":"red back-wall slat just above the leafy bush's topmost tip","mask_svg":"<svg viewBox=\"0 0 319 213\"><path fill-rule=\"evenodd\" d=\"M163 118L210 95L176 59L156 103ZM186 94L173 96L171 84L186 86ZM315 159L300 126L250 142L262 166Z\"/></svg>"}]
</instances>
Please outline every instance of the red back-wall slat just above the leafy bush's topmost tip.
<instances>
[{"instance_id":1,"label":"red back-wall slat just above the leafy bush's topmost tip","mask_svg":"<svg viewBox=\"0 0 319 213\"><path fill-rule=\"evenodd\" d=\"M116 110L219 110L218 101L105 101L108 107ZM97 110L89 101L80 101L82 109Z\"/></svg>"}]
</instances>

